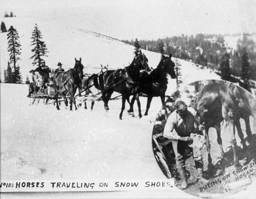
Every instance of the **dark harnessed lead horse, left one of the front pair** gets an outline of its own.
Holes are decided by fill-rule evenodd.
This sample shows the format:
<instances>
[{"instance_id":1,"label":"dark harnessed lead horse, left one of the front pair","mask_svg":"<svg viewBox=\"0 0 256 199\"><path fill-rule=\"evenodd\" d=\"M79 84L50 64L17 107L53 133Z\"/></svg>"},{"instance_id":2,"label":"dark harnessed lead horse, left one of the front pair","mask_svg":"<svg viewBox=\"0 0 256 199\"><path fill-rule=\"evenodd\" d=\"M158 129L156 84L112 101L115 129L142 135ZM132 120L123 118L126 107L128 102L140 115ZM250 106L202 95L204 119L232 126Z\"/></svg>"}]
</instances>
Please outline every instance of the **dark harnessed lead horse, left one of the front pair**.
<instances>
[{"instance_id":1,"label":"dark harnessed lead horse, left one of the front pair","mask_svg":"<svg viewBox=\"0 0 256 199\"><path fill-rule=\"evenodd\" d=\"M100 73L98 79L94 79L96 88L102 90L102 100L105 110L109 110L108 102L112 93L116 91L122 94L122 108L119 119L122 119L126 99L130 102L130 95L135 95L139 109L139 117L142 117L139 101L139 80L140 70L150 71L147 61L144 54L141 52L136 53L131 65L123 69L107 70Z\"/></svg>"}]
</instances>

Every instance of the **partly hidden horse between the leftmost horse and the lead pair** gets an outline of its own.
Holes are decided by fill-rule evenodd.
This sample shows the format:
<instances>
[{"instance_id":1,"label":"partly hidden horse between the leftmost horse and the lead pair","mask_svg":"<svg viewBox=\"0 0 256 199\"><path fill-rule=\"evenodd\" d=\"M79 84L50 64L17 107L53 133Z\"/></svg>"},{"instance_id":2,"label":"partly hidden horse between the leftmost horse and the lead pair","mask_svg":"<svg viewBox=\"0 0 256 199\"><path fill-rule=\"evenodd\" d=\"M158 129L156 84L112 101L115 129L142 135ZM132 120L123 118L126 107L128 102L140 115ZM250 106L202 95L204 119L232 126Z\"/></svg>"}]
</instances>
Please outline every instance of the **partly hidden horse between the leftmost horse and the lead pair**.
<instances>
[{"instance_id":1,"label":"partly hidden horse between the leftmost horse and the lead pair","mask_svg":"<svg viewBox=\"0 0 256 199\"><path fill-rule=\"evenodd\" d=\"M95 74L95 73L89 77L83 77L81 89L86 91L86 96L92 96L92 98L97 97L99 90L94 85L94 79L96 78L98 78L98 74ZM92 99L91 110L93 110L94 103L95 102ZM84 99L84 109L87 109L86 99Z\"/></svg>"}]
</instances>

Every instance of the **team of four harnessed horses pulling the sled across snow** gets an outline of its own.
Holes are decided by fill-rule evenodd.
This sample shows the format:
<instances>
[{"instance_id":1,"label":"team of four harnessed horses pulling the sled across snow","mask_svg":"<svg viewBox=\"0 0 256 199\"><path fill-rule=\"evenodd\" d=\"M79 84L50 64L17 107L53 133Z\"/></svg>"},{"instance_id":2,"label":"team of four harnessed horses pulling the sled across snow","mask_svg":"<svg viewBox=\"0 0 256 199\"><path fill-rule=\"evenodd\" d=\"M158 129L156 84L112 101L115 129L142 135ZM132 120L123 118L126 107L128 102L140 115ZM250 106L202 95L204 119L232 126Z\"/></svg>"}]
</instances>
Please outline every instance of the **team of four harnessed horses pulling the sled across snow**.
<instances>
[{"instance_id":1,"label":"team of four harnessed horses pulling the sled across snow","mask_svg":"<svg viewBox=\"0 0 256 199\"><path fill-rule=\"evenodd\" d=\"M66 72L57 72L54 76L53 86L55 89L55 101L58 106L58 96L61 95L66 97L70 94L70 110L72 110L72 103L77 109L75 102L75 93L77 88L79 94L83 91L93 94L101 94L101 99L104 103L105 110L109 110L108 102L114 91L121 93L122 95L122 107L119 114L119 119L122 119L122 114L125 109L125 102L130 104L129 112L133 112L133 104L135 99L137 101L139 117L142 117L141 107L139 101L139 94L145 93L148 95L147 98L147 109L145 115L147 115L148 109L152 101L152 97L160 96L162 105L164 104L165 91L167 89L167 78L166 74L170 74L172 78L176 78L174 71L175 64L171 60L172 55L164 56L160 60L159 65L156 69L151 71L148 66L147 58L141 51L135 53L135 57L129 66L123 69L117 70L106 70L101 71L98 74L92 74L90 77L83 78L83 65L80 60L75 59L74 68ZM92 91L100 90L100 92ZM133 95L132 102L130 103L130 96ZM93 107L92 103L92 107ZM85 107L86 103L85 103ZM133 115L134 116L134 115Z\"/></svg>"}]
</instances>

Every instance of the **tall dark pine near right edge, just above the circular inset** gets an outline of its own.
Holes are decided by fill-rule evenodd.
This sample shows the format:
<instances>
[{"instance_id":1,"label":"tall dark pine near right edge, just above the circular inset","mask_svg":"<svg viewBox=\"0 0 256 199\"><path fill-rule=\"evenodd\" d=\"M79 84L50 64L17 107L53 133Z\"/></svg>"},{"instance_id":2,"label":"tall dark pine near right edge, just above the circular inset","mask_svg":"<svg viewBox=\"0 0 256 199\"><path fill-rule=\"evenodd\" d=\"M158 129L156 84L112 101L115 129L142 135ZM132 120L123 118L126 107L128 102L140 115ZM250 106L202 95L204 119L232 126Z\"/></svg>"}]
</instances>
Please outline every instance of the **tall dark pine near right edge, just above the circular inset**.
<instances>
[{"instance_id":1,"label":"tall dark pine near right edge, just above the circular inset","mask_svg":"<svg viewBox=\"0 0 256 199\"><path fill-rule=\"evenodd\" d=\"M242 71L242 80L243 87L250 91L250 63L248 61L248 53L246 47L243 47L243 54L241 56L241 71Z\"/></svg>"}]
</instances>

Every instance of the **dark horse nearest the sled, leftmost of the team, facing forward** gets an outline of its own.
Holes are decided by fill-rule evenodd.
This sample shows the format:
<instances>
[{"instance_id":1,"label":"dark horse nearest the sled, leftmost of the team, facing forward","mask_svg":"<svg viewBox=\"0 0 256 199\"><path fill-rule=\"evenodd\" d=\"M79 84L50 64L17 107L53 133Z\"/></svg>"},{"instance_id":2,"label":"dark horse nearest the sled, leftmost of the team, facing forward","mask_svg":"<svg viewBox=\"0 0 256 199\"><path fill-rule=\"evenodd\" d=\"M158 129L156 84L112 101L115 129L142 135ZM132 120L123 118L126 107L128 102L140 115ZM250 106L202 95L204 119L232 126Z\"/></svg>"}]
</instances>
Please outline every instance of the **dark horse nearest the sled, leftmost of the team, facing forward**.
<instances>
[{"instance_id":1,"label":"dark horse nearest the sled, leftmost of the team, facing forward","mask_svg":"<svg viewBox=\"0 0 256 199\"><path fill-rule=\"evenodd\" d=\"M58 96L66 97L66 95L70 94L70 110L72 110L72 103L74 103L75 110L76 101L75 101L75 93L77 88L81 85L81 80L83 79L83 65L80 60L76 60L75 58L75 66L74 68L69 69L66 72L57 72L53 77L53 86L55 88L55 102L56 108L59 110L58 104Z\"/></svg>"}]
</instances>

